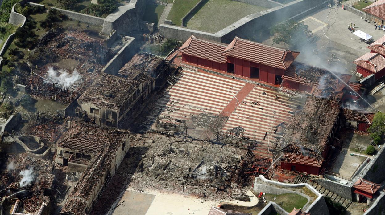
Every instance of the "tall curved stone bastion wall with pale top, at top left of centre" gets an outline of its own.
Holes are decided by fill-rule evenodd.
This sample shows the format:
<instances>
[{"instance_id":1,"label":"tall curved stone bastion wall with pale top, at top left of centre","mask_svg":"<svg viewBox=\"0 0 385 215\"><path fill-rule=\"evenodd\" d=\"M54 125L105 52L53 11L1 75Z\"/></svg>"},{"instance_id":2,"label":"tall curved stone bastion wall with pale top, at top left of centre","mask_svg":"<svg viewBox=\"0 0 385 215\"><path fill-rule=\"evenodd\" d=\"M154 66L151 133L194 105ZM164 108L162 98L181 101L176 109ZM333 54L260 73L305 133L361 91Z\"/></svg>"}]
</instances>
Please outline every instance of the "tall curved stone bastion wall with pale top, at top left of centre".
<instances>
[{"instance_id":1,"label":"tall curved stone bastion wall with pale top, at top left of centre","mask_svg":"<svg viewBox=\"0 0 385 215\"><path fill-rule=\"evenodd\" d=\"M109 35L112 30L127 33L139 28L139 20L146 9L146 0L131 0L104 19L102 34Z\"/></svg>"}]
</instances>

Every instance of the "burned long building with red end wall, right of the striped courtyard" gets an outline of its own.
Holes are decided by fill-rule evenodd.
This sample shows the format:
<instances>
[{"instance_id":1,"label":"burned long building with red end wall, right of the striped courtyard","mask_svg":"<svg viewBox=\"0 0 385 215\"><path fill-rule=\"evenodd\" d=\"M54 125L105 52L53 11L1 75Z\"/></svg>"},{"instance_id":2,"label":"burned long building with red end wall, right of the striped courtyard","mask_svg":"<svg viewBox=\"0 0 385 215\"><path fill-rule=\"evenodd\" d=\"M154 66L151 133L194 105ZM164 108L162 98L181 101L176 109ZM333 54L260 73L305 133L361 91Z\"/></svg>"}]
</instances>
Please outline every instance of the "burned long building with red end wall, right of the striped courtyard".
<instances>
[{"instance_id":1,"label":"burned long building with red end wall, right of the striped courtyard","mask_svg":"<svg viewBox=\"0 0 385 215\"><path fill-rule=\"evenodd\" d=\"M278 143L284 152L281 168L319 175L339 129L340 111L336 100L308 97Z\"/></svg>"}]
</instances>

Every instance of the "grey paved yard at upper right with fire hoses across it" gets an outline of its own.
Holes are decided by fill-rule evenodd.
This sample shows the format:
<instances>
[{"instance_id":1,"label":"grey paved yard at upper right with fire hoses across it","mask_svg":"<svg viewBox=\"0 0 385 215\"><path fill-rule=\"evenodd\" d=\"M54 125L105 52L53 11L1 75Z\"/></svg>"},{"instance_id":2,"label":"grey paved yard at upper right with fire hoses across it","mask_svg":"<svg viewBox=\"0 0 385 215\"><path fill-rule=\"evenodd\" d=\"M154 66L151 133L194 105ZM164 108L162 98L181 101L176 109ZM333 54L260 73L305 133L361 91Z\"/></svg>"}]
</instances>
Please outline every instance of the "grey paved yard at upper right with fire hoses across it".
<instances>
[{"instance_id":1,"label":"grey paved yard at upper right with fire hoses across it","mask_svg":"<svg viewBox=\"0 0 385 215\"><path fill-rule=\"evenodd\" d=\"M341 7L322 8L303 17L301 21L308 25L315 37L300 44L299 50L296 51L301 53L296 60L341 73L349 73L355 68L355 64L352 62L369 52L369 49L366 48L367 44L361 42L348 30L350 23L355 23L357 30L368 33L373 40L377 40L385 34L383 30L375 30L372 22L365 22L360 16L343 10ZM272 45L272 39L273 37L270 37L263 43ZM315 55L317 50L317 55ZM334 53L338 60L336 59L332 65L328 65L327 60L330 59L331 53Z\"/></svg>"}]
</instances>

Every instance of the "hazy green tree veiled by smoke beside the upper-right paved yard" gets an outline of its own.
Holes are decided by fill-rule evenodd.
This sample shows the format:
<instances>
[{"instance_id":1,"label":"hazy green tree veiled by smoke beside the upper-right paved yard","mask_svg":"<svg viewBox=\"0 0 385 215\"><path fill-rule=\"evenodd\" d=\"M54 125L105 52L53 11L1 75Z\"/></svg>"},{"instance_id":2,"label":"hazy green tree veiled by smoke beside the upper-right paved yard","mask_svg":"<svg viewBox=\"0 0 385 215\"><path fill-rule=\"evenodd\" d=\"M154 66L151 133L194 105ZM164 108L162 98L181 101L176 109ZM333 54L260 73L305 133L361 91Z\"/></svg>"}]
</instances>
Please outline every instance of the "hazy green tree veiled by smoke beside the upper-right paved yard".
<instances>
[{"instance_id":1,"label":"hazy green tree veiled by smoke beside the upper-right paved yard","mask_svg":"<svg viewBox=\"0 0 385 215\"><path fill-rule=\"evenodd\" d=\"M304 22L294 20L287 20L274 25L271 27L270 33L274 35L274 44L284 42L292 49L313 36L313 33Z\"/></svg>"}]
</instances>

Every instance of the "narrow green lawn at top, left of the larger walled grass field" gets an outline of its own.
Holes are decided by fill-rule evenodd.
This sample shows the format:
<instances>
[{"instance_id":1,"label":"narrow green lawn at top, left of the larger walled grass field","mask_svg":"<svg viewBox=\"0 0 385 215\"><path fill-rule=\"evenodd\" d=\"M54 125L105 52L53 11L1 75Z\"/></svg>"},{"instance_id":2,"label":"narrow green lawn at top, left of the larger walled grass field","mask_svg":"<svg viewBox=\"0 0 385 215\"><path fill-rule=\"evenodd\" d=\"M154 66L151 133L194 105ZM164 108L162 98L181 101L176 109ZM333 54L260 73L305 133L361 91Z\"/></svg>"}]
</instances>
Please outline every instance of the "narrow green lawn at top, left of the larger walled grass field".
<instances>
[{"instance_id":1,"label":"narrow green lawn at top, left of the larger walled grass field","mask_svg":"<svg viewBox=\"0 0 385 215\"><path fill-rule=\"evenodd\" d=\"M172 3L172 0L168 1ZM173 25L182 25L182 18L199 2L199 0L177 0L172 5L167 20L171 20Z\"/></svg>"}]
</instances>

